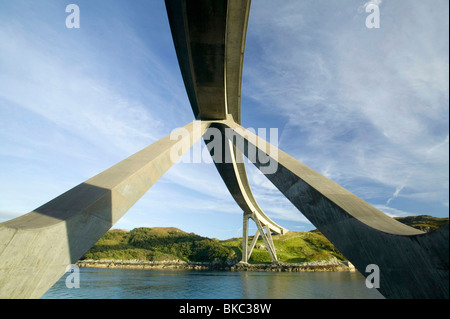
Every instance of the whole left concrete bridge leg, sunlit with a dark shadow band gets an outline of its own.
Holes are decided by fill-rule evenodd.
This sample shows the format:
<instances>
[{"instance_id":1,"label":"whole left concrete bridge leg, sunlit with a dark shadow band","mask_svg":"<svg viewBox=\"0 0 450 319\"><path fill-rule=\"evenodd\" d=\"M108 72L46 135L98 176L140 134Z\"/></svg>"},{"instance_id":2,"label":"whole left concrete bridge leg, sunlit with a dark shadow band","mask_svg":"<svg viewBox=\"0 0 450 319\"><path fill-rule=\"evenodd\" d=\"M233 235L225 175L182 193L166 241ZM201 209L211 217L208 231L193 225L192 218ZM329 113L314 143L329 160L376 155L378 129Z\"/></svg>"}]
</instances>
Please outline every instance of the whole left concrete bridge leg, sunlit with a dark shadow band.
<instances>
[{"instance_id":1,"label":"whole left concrete bridge leg, sunlit with a dark shadow band","mask_svg":"<svg viewBox=\"0 0 450 319\"><path fill-rule=\"evenodd\" d=\"M183 134L173 134L183 136L179 140L168 135L34 211L1 223L0 298L40 298L208 125L190 123L179 129Z\"/></svg>"}]
</instances>

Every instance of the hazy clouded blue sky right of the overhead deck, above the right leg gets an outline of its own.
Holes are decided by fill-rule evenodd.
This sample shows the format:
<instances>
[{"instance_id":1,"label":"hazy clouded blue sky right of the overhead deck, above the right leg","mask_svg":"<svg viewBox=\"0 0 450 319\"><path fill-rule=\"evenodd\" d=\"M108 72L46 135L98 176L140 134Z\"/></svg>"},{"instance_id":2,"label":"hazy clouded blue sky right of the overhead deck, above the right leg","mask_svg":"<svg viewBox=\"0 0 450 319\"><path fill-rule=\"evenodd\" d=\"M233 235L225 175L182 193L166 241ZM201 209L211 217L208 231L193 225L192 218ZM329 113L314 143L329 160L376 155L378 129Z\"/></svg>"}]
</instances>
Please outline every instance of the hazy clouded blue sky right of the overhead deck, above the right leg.
<instances>
[{"instance_id":1,"label":"hazy clouded blue sky right of the overhead deck, above the right leg","mask_svg":"<svg viewBox=\"0 0 450 319\"><path fill-rule=\"evenodd\" d=\"M342 4L315 3L289 2L292 15L321 13L290 30L260 4L243 94L287 118L282 149L366 200L448 201L448 4L395 2L368 33Z\"/></svg>"}]
</instances>

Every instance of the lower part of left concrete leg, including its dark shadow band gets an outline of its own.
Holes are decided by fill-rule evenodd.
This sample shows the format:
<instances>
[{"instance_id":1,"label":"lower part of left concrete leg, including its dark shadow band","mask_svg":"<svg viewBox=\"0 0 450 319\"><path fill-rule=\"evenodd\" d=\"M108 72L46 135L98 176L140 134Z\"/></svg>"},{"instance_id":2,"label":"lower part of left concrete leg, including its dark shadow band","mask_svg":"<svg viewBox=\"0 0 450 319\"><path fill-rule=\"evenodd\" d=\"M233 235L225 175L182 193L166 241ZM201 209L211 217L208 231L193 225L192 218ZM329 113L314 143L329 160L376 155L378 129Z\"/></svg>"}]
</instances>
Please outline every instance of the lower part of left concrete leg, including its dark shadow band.
<instances>
[{"instance_id":1,"label":"lower part of left concrete leg, including its dark shadow band","mask_svg":"<svg viewBox=\"0 0 450 319\"><path fill-rule=\"evenodd\" d=\"M0 224L4 298L39 298L113 225L111 191L82 183Z\"/></svg>"}]
</instances>

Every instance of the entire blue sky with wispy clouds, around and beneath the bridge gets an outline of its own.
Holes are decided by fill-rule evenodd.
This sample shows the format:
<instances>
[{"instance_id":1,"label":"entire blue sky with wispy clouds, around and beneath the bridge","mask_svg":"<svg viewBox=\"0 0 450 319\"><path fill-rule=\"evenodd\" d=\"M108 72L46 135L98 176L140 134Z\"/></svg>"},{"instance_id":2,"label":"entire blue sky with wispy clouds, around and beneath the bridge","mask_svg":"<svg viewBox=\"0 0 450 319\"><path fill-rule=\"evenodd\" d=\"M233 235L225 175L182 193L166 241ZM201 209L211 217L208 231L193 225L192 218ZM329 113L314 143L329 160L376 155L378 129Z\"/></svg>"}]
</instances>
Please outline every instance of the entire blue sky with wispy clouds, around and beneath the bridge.
<instances>
[{"instance_id":1,"label":"entire blue sky with wispy clouds, around and beneath the bridge","mask_svg":"<svg viewBox=\"0 0 450 319\"><path fill-rule=\"evenodd\" d=\"M376 3L368 29L364 0L254 0L242 124L390 216L447 217L449 2ZM162 0L0 0L0 222L192 120ZM267 215L314 228L247 168ZM114 228L141 226L225 239L242 212L214 165L179 163Z\"/></svg>"}]
</instances>

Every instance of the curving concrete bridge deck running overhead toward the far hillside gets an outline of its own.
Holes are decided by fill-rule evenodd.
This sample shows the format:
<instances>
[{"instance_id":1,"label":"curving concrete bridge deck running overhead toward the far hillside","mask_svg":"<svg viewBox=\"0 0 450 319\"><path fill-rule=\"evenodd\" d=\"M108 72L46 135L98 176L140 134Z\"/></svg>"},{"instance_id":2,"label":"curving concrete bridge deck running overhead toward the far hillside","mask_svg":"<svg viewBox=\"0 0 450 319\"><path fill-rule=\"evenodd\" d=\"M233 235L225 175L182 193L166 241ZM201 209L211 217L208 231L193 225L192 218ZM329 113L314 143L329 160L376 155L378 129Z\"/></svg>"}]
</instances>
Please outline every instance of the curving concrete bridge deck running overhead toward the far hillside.
<instances>
[{"instance_id":1,"label":"curving concrete bridge deck running overhead toward the far hillside","mask_svg":"<svg viewBox=\"0 0 450 319\"><path fill-rule=\"evenodd\" d=\"M240 123L241 84L250 1L166 1L181 73L194 116L200 120L232 119ZM208 132L207 134L208 135ZM276 234L286 229L272 221L257 204L250 189L242 153L222 139L225 157L215 165L244 214ZM208 140L205 139L207 145ZM210 150L211 151L211 150ZM258 221L256 221L258 219ZM244 227L245 228L245 227ZM244 229L245 232L245 229ZM270 235L270 234L269 234ZM246 233L243 234L246 237ZM264 238L264 234L261 233ZM247 240L243 242L246 250ZM267 245L270 247L270 245ZM275 251L270 251L276 261ZM243 261L248 260L244 254Z\"/></svg>"}]
</instances>

